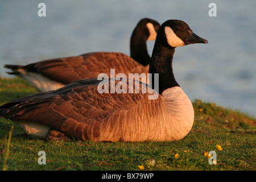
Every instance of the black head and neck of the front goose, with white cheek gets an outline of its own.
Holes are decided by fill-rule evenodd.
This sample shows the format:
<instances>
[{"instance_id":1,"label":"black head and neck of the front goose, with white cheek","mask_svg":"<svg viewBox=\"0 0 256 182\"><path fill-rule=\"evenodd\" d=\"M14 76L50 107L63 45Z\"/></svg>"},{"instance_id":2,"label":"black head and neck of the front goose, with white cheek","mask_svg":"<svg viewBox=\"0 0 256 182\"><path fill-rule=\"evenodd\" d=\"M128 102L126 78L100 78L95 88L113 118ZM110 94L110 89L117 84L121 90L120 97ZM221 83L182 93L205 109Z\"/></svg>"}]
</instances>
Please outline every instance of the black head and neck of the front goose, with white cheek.
<instances>
[{"instance_id":1,"label":"black head and neck of the front goose, with white cheek","mask_svg":"<svg viewBox=\"0 0 256 182\"><path fill-rule=\"evenodd\" d=\"M160 26L149 68L149 73L159 74L159 93L179 86L172 71L175 48L195 43L208 43L208 41L194 34L188 24L181 20L167 20ZM154 88L153 77L150 82Z\"/></svg>"}]
</instances>

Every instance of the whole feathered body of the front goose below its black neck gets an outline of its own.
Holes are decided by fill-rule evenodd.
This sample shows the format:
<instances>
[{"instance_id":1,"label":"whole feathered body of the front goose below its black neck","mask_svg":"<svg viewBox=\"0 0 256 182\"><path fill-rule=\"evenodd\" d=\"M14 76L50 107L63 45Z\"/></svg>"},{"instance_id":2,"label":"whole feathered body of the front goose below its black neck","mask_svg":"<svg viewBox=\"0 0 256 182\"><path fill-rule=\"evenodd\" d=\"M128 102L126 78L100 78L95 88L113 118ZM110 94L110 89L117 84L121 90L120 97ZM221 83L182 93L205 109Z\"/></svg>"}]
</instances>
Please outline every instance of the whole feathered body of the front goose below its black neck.
<instances>
[{"instance_id":1,"label":"whole feathered body of the front goose below its black neck","mask_svg":"<svg viewBox=\"0 0 256 182\"><path fill-rule=\"evenodd\" d=\"M73 86L27 96L24 100L14 101L11 107L9 104L9 109L1 106L1 114L14 121L47 125L79 140L164 141L180 139L191 129L193 120L186 116L188 111L183 109L184 105L179 105L180 100L185 104L190 101L183 98L179 87L171 88L172 92L166 91L156 100L148 100L152 91L143 84L139 85L139 90L146 90L146 93L113 93L106 97L97 92L96 80L94 84L85 85L85 82L93 81L80 80ZM115 85L118 82L115 81ZM126 80L126 85L130 82ZM180 93L175 95L176 92ZM177 118L188 124L179 126L175 122Z\"/></svg>"}]
</instances>

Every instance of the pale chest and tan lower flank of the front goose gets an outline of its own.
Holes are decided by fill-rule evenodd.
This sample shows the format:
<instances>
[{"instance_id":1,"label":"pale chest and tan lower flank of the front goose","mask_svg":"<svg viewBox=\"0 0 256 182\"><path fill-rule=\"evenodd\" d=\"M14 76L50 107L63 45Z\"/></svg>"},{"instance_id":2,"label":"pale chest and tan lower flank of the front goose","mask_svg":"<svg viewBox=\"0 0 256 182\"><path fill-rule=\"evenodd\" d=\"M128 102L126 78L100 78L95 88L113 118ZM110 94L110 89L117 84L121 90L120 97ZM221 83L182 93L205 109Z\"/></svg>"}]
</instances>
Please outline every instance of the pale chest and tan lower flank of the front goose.
<instances>
[{"instance_id":1,"label":"pale chest and tan lower flank of the front goose","mask_svg":"<svg viewBox=\"0 0 256 182\"><path fill-rule=\"evenodd\" d=\"M194 112L191 101L179 86L165 90L156 100L143 101L133 110L115 113L115 122L102 124L100 140L171 141L189 133ZM110 123L115 123L111 125Z\"/></svg>"}]
</instances>

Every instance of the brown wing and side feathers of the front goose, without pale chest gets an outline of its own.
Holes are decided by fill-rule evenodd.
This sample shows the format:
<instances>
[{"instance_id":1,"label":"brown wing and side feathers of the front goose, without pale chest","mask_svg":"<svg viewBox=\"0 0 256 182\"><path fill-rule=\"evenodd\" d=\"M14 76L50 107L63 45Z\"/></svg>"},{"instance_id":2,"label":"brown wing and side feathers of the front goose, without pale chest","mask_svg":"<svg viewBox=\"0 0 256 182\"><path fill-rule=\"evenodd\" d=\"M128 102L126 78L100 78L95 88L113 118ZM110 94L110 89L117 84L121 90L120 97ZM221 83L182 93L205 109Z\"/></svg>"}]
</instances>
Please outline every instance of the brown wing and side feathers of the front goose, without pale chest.
<instances>
[{"instance_id":1,"label":"brown wing and side feathers of the front goose, without pale chest","mask_svg":"<svg viewBox=\"0 0 256 182\"><path fill-rule=\"evenodd\" d=\"M139 127L138 121L148 119L143 115L154 117L159 113L158 106L152 107L160 100L148 100L150 93L100 94L98 82L80 80L55 91L34 94L14 101L8 108L1 106L0 113L14 121L38 122L64 131L69 137L95 141L134 138L144 127ZM139 90L141 93L141 84Z\"/></svg>"}]
</instances>

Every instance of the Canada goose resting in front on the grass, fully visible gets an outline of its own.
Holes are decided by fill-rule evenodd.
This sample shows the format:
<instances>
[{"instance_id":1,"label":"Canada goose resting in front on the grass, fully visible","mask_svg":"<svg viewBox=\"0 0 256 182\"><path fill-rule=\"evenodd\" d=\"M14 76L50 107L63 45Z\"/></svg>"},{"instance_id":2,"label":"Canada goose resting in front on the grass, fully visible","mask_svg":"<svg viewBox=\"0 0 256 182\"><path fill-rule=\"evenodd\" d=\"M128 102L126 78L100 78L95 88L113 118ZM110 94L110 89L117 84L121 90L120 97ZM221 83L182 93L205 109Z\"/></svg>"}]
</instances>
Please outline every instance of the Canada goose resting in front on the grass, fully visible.
<instances>
[{"instance_id":1,"label":"Canada goose resting in front on the grass, fully visible","mask_svg":"<svg viewBox=\"0 0 256 182\"><path fill-rule=\"evenodd\" d=\"M99 93L101 80L79 80L2 105L0 117L11 119L30 135L47 139L179 140L191 130L194 113L191 101L175 80L172 58L175 47L195 43L208 42L194 34L185 22L167 20L162 24L149 69L150 73L159 74L156 99L148 100L153 90L141 82L134 81L140 93ZM123 89L130 82L133 81L126 80Z\"/></svg>"}]
</instances>

